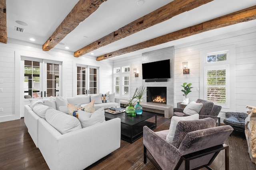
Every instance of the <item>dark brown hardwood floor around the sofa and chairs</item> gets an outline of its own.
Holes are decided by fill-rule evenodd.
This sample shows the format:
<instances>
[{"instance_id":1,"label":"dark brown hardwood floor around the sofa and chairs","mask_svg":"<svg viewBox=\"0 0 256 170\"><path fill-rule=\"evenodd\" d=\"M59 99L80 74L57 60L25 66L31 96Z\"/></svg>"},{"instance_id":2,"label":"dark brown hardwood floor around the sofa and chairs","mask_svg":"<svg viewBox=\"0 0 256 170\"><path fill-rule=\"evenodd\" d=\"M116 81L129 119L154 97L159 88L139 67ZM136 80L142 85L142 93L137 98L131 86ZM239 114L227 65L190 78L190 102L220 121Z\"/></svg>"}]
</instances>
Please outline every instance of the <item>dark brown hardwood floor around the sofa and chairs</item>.
<instances>
[{"instance_id":1,"label":"dark brown hardwood floor around the sofa and chairs","mask_svg":"<svg viewBox=\"0 0 256 170\"><path fill-rule=\"evenodd\" d=\"M152 121L154 121L152 119ZM169 129L170 119L157 115L154 131ZM148 160L143 163L143 138L130 144L121 140L121 147L86 170L156 170ZM230 150L230 170L256 170L250 161L247 143L243 134L234 132L225 141ZM86 160L85 160L86 161ZM214 170L224 170L224 152L220 152L210 166ZM48 166L32 141L24 119L0 123L0 170L48 170ZM206 169L206 168L205 168ZM203 169L204 170L204 169Z\"/></svg>"}]
</instances>

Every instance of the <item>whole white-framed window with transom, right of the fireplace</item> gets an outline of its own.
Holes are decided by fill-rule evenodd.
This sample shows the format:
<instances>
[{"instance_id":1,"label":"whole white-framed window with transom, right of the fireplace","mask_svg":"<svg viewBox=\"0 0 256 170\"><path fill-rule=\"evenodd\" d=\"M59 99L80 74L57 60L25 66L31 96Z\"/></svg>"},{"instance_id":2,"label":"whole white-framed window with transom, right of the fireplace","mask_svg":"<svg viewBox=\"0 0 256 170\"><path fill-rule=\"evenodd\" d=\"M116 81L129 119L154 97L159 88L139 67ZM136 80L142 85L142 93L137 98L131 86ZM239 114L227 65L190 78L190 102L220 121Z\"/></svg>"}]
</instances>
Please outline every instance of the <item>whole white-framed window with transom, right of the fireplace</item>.
<instances>
[{"instance_id":1,"label":"whole white-framed window with transom, right of the fireplace","mask_svg":"<svg viewBox=\"0 0 256 170\"><path fill-rule=\"evenodd\" d=\"M235 101L236 45L220 46L200 51L200 98L231 111ZM232 92L232 93L231 93Z\"/></svg>"}]
</instances>

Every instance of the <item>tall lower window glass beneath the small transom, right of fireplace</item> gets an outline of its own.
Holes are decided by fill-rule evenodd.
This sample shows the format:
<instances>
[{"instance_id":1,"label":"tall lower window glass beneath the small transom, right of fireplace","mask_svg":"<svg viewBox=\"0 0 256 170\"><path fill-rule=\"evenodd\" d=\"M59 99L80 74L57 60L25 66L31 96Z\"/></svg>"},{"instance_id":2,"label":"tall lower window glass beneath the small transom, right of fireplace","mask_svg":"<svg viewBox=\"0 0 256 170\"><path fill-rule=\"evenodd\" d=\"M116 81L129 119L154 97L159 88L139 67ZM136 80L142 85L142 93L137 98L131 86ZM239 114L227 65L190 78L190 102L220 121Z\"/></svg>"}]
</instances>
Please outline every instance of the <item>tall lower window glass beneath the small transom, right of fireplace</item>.
<instances>
[{"instance_id":1,"label":"tall lower window glass beneath the small transom, right of fireplace","mask_svg":"<svg viewBox=\"0 0 256 170\"><path fill-rule=\"evenodd\" d=\"M206 100L226 104L226 68L206 68Z\"/></svg>"}]
</instances>

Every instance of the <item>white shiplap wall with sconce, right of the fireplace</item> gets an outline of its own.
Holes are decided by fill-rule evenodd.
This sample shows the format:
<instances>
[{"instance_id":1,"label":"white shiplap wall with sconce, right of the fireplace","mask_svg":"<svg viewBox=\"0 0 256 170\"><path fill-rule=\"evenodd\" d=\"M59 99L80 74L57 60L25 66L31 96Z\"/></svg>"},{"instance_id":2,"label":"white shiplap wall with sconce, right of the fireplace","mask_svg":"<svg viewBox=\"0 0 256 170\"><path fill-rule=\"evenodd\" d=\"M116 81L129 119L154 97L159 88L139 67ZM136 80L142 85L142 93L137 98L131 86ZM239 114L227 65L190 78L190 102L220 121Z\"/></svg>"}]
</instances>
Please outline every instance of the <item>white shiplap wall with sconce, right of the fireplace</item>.
<instances>
[{"instance_id":1,"label":"white shiplap wall with sconce, right of the fireplace","mask_svg":"<svg viewBox=\"0 0 256 170\"><path fill-rule=\"evenodd\" d=\"M230 109L225 111L246 112L246 105L256 106L256 29L247 29L239 32L229 33L195 41L193 43L175 46L175 82L174 82L174 103L182 101L183 82L192 83L192 92L188 95L190 101L200 98L200 51L233 45L235 47L235 87L234 98L230 99ZM182 62L188 61L190 74L182 74ZM225 117L221 112L220 117Z\"/></svg>"}]
</instances>

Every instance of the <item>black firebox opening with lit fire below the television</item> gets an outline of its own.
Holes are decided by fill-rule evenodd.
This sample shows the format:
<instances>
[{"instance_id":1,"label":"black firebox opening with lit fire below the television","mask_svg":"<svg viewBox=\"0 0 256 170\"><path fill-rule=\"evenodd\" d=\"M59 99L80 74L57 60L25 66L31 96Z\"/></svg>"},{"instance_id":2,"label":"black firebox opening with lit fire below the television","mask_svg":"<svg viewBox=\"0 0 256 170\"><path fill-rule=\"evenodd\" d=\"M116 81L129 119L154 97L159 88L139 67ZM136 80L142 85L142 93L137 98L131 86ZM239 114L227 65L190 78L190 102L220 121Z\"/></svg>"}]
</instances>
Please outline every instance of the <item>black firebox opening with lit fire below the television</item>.
<instances>
[{"instance_id":1,"label":"black firebox opening with lit fire below the television","mask_svg":"<svg viewBox=\"0 0 256 170\"><path fill-rule=\"evenodd\" d=\"M147 102L166 104L166 87L147 87Z\"/></svg>"}]
</instances>

